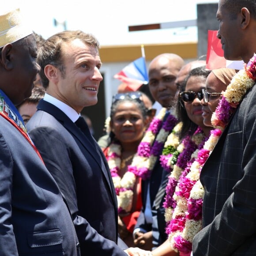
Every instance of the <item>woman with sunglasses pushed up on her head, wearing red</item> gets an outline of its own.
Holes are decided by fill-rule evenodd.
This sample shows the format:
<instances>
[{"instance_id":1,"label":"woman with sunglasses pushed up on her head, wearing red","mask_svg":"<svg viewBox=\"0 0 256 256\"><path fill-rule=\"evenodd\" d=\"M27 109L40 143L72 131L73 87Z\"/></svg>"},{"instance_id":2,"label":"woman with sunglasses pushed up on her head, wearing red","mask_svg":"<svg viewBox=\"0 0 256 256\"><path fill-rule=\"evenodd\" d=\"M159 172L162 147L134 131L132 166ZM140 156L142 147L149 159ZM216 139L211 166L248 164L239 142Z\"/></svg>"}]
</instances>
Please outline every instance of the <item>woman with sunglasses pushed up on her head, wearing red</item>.
<instances>
[{"instance_id":1,"label":"woman with sunglasses pushed up on her head, wearing red","mask_svg":"<svg viewBox=\"0 0 256 256\"><path fill-rule=\"evenodd\" d=\"M118 226L123 241L134 247L132 231L141 203L140 179L128 172L147 127L147 109L139 92L116 94L110 111L110 143L102 149L117 192Z\"/></svg>"}]
</instances>

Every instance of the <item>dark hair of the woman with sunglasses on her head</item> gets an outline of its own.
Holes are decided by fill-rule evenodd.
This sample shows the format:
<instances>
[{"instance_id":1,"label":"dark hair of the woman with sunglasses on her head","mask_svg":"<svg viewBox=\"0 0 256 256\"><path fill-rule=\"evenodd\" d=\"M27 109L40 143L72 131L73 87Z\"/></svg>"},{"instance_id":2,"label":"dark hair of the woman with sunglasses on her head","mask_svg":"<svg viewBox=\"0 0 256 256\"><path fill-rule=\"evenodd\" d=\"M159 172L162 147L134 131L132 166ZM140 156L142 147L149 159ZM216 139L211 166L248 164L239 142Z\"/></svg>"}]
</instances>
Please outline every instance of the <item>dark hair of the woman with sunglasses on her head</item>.
<instances>
[{"instance_id":1,"label":"dark hair of the woman with sunglasses on her head","mask_svg":"<svg viewBox=\"0 0 256 256\"><path fill-rule=\"evenodd\" d=\"M139 110L142 113L143 119L145 120L147 117L147 109L143 103L142 100L140 100L139 98L131 98L129 96L129 94L124 94L124 98L120 99L120 100L116 100L112 103L111 105L111 109L110 109L110 119L113 120L113 116L115 115L115 113L117 112L117 108L120 104L124 103L124 102L132 102L135 105L138 106ZM115 134L111 131L109 133L109 138L110 138L110 143L109 145L115 140ZM108 145L108 147L109 147Z\"/></svg>"}]
</instances>

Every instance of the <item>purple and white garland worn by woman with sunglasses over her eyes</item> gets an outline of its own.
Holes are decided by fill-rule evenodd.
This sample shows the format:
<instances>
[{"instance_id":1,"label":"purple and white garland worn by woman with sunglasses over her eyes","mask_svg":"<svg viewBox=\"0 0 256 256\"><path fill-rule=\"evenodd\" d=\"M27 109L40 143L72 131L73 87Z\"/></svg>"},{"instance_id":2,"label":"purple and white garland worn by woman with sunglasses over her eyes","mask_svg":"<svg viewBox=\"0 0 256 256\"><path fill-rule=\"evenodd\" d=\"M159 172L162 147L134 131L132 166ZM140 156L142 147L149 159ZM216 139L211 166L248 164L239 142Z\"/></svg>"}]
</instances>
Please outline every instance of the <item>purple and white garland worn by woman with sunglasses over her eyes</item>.
<instances>
[{"instance_id":1,"label":"purple and white garland worn by woman with sunglasses over her eyes","mask_svg":"<svg viewBox=\"0 0 256 256\"><path fill-rule=\"evenodd\" d=\"M173 160L171 160L171 162L173 162L173 166L169 166L169 168L173 169L173 171L169 176L168 184L166 186L166 198L165 202L163 203L163 206L166 208L166 222L171 220L173 209L176 207L176 200L174 200L173 194L178 180L181 174L184 172L187 162L191 160L192 153L198 148L202 148L204 142L205 136L203 130L198 127L192 136L186 136L182 140L181 144L177 147L178 154L174 154L175 157ZM172 154L169 155L169 158L172 159ZM178 156L176 157L176 155Z\"/></svg>"}]
</instances>

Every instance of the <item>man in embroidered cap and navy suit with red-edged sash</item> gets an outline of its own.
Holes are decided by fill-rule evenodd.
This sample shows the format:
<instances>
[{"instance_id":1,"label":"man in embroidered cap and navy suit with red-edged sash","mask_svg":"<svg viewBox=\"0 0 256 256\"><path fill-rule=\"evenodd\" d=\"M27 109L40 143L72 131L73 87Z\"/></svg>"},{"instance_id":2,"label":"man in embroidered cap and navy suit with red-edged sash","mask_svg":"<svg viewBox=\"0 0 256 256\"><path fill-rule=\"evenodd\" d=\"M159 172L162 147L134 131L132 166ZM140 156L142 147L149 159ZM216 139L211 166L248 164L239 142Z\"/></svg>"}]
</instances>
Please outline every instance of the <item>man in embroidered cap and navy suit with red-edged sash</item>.
<instances>
[{"instance_id":1,"label":"man in embroidered cap and navy suit with red-edged sash","mask_svg":"<svg viewBox=\"0 0 256 256\"><path fill-rule=\"evenodd\" d=\"M0 15L0 255L78 256L72 217L15 105L39 71L19 9Z\"/></svg>"}]
</instances>

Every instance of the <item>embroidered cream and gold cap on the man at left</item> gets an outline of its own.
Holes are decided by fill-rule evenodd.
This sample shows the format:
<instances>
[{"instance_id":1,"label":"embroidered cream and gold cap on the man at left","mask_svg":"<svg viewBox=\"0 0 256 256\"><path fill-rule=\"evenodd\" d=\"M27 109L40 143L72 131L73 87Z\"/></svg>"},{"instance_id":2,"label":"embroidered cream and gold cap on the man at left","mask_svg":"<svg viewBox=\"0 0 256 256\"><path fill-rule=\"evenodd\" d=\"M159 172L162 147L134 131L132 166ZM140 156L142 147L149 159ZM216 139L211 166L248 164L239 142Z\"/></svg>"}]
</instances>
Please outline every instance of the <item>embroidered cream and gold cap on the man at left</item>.
<instances>
[{"instance_id":1,"label":"embroidered cream and gold cap on the man at left","mask_svg":"<svg viewBox=\"0 0 256 256\"><path fill-rule=\"evenodd\" d=\"M19 8L0 13L0 48L30 34L33 31L26 25Z\"/></svg>"}]
</instances>

